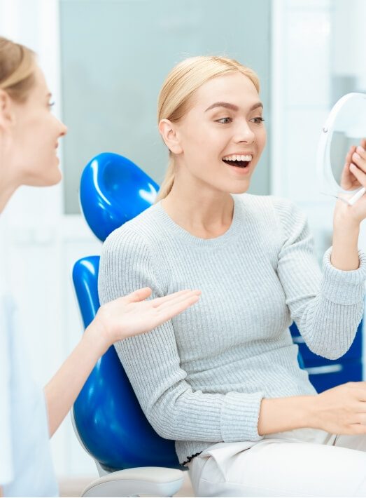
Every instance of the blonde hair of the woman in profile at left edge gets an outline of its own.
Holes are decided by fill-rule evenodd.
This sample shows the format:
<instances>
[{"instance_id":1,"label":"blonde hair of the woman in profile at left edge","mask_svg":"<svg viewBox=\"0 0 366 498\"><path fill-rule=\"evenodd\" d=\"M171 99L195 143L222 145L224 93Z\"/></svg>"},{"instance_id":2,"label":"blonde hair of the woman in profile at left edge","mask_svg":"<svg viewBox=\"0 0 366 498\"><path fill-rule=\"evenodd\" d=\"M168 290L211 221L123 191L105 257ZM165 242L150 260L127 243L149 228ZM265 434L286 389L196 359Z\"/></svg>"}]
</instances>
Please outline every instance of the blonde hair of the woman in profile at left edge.
<instances>
[{"instance_id":1,"label":"blonde hair of the woman in profile at left edge","mask_svg":"<svg viewBox=\"0 0 366 498\"><path fill-rule=\"evenodd\" d=\"M20 43L0 36L0 88L13 100L24 102L34 85L36 58L33 51Z\"/></svg>"}]
</instances>

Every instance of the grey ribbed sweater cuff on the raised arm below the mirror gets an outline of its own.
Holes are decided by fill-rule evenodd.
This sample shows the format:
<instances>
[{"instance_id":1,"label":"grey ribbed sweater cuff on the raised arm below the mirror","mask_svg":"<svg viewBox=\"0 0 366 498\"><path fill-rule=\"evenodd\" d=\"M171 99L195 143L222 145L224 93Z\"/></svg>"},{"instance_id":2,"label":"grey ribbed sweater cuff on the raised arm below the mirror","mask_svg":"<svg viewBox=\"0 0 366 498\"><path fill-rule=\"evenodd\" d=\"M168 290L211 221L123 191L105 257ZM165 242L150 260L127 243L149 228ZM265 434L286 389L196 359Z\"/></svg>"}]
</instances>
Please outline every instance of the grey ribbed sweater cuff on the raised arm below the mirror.
<instances>
[{"instance_id":1,"label":"grey ribbed sweater cuff on the raised arm below the mirror","mask_svg":"<svg viewBox=\"0 0 366 498\"><path fill-rule=\"evenodd\" d=\"M323 257L323 282L321 293L335 304L357 304L365 295L366 257L359 250L360 266L356 270L339 270L330 262L332 247Z\"/></svg>"}]
</instances>

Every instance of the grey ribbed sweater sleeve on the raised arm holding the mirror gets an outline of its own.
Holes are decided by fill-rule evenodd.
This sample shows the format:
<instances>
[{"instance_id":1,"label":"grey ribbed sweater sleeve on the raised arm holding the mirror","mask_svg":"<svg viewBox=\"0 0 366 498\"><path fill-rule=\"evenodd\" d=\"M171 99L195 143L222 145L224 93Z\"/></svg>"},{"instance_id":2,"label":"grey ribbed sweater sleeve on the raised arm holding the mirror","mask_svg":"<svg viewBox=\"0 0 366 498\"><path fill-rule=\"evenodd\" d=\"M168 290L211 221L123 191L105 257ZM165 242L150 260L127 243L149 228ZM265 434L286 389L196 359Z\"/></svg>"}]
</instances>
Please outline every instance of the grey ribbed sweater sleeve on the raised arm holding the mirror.
<instances>
[{"instance_id":1,"label":"grey ribbed sweater sleeve on the raised arm holding the mirror","mask_svg":"<svg viewBox=\"0 0 366 498\"><path fill-rule=\"evenodd\" d=\"M339 358L350 348L363 316L365 255L359 251L358 269L342 271L332 266L329 248L322 274L304 213L289 201L275 206L283 235L277 272L291 318L311 351Z\"/></svg>"}]
</instances>

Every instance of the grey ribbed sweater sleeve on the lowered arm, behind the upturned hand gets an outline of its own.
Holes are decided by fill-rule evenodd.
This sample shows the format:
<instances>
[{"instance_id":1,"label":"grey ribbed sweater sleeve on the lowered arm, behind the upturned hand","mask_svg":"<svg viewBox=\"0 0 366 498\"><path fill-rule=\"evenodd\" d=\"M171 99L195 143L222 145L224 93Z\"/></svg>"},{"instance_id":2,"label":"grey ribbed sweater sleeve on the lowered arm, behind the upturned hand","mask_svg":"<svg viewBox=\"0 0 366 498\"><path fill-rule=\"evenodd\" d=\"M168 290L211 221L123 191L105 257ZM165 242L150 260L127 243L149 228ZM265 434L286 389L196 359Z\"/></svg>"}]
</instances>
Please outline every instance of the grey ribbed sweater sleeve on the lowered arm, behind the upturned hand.
<instances>
[{"instance_id":1,"label":"grey ribbed sweater sleeve on the lowered arm, behind the upturned hand","mask_svg":"<svg viewBox=\"0 0 366 498\"><path fill-rule=\"evenodd\" d=\"M153 252L140 234L118 229L104 243L99 266L101 304L149 286L164 295ZM263 393L193 391L182 370L171 321L115 344L141 408L153 429L167 439L260 440L258 416Z\"/></svg>"}]
</instances>

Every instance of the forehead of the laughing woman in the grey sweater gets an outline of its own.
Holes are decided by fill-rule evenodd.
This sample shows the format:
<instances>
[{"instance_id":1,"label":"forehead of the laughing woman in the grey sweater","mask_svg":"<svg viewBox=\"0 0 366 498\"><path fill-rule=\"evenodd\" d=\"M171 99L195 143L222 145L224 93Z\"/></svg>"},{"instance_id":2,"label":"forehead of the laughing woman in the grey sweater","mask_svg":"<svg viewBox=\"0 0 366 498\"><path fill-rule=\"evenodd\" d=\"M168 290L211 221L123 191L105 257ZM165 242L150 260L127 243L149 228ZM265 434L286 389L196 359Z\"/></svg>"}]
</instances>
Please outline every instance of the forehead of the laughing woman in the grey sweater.
<instances>
[{"instance_id":1,"label":"forehead of the laughing woman in the grey sweater","mask_svg":"<svg viewBox=\"0 0 366 498\"><path fill-rule=\"evenodd\" d=\"M248 76L237 72L218 76L204 83L195 93L194 106L206 109L214 102L223 101L246 108L258 100L254 83Z\"/></svg>"}]
</instances>

